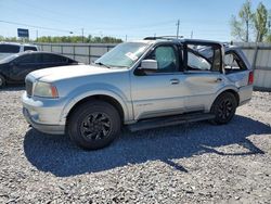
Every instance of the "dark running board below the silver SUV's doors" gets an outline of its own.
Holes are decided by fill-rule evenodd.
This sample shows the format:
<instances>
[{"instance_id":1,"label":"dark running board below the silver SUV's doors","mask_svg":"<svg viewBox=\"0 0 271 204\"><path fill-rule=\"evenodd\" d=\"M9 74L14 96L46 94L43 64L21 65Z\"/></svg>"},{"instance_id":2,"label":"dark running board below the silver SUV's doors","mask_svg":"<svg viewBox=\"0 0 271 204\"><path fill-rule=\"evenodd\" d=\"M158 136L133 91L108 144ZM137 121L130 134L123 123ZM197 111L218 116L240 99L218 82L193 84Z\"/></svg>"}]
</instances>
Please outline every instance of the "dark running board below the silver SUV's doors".
<instances>
[{"instance_id":1,"label":"dark running board below the silver SUV's doors","mask_svg":"<svg viewBox=\"0 0 271 204\"><path fill-rule=\"evenodd\" d=\"M140 120L137 124L128 125L127 128L130 131L139 131L145 129L153 129L157 127L175 126L179 124L185 124L191 122L201 122L206 119L214 119L215 115L209 113L193 113L193 114L183 114L175 115L168 117L159 117L153 119Z\"/></svg>"}]
</instances>

